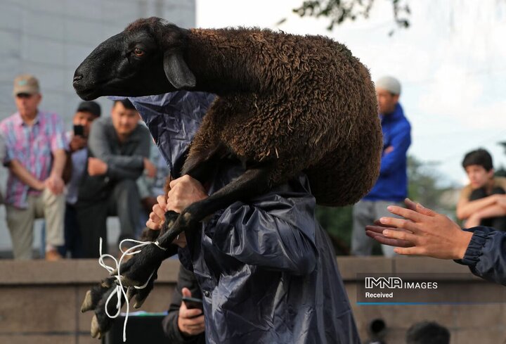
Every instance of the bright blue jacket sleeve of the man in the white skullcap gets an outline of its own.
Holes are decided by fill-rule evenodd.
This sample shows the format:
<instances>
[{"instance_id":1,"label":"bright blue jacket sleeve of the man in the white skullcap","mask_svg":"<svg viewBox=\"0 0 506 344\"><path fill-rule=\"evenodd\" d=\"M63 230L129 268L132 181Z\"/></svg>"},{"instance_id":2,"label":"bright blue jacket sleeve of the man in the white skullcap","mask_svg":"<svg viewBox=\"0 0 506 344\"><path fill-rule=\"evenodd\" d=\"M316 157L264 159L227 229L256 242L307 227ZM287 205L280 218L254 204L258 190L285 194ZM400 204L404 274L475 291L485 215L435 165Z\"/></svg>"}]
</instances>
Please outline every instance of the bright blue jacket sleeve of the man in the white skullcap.
<instances>
[{"instance_id":1,"label":"bright blue jacket sleeve of the man in the white skullcap","mask_svg":"<svg viewBox=\"0 0 506 344\"><path fill-rule=\"evenodd\" d=\"M408 123L399 125L391 134L390 146L394 148L390 153L382 156L380 174L387 175L401 167L406 160L406 153L411 144L411 127Z\"/></svg>"}]
</instances>

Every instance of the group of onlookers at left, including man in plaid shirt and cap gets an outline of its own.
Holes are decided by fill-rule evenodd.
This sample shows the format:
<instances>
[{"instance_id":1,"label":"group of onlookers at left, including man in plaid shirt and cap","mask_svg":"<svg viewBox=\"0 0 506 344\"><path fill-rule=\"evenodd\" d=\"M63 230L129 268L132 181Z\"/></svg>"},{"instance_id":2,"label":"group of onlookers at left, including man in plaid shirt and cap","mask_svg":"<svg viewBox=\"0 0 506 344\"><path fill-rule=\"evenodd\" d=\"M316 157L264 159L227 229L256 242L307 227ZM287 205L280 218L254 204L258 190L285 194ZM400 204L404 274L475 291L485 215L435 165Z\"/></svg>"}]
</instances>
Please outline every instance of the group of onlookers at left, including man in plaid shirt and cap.
<instances>
[{"instance_id":1,"label":"group of onlookers at left, including man in plaid shirt and cap","mask_svg":"<svg viewBox=\"0 0 506 344\"><path fill-rule=\"evenodd\" d=\"M65 132L61 117L39 110L37 78L16 77L13 96L18 111L0 122L0 158L14 259L32 258L38 218L46 260L98 257L100 237L107 253L109 216L119 219L119 240L138 237L169 172L131 102L114 101L110 116L79 103Z\"/></svg>"}]
</instances>

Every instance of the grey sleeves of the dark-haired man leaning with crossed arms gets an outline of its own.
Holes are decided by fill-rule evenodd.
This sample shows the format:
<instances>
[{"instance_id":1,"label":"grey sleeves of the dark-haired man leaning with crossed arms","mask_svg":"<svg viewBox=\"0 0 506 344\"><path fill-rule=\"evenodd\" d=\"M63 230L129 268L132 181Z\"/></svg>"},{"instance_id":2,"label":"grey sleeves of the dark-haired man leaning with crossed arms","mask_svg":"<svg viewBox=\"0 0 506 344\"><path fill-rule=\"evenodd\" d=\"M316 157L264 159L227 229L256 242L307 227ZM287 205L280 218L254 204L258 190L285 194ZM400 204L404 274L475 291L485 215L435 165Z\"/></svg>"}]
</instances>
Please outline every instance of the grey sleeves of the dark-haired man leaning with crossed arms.
<instances>
[{"instance_id":1,"label":"grey sleeves of the dark-haired man leaning with crossed arms","mask_svg":"<svg viewBox=\"0 0 506 344\"><path fill-rule=\"evenodd\" d=\"M89 150L94 157L108 165L108 177L114 179L137 179L144 170L144 158L149 158L150 138L147 130L131 155L115 155L111 152L108 132L102 122L95 121L91 125L88 139Z\"/></svg>"}]
</instances>

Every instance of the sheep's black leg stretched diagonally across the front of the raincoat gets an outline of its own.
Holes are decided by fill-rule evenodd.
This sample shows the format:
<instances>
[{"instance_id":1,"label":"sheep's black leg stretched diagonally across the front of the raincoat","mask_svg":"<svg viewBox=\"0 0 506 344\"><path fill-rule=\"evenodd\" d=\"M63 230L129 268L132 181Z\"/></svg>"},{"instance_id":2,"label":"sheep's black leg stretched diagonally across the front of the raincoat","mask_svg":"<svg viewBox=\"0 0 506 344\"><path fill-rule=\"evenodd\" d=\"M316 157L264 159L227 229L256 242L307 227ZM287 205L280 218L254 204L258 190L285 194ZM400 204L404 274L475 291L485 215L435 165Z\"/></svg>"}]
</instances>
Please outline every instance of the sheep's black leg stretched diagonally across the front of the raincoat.
<instances>
[{"instance_id":1,"label":"sheep's black leg stretched diagonally across the front of the raincoat","mask_svg":"<svg viewBox=\"0 0 506 344\"><path fill-rule=\"evenodd\" d=\"M265 193L270 188L271 168L268 166L246 170L237 179L234 179L223 188L219 189L204 200L189 205L181 214L173 220L171 227L160 237L158 243L162 248L171 246L177 236L185 230L195 228L202 219L212 215L217 210L228 207L237 200L249 200L254 196ZM169 212L169 214L174 212ZM146 246L141 253L134 255L128 262L122 265L122 283L125 286L140 286L148 280L148 272L151 265L157 262L157 254L161 250L155 245Z\"/></svg>"}]
</instances>

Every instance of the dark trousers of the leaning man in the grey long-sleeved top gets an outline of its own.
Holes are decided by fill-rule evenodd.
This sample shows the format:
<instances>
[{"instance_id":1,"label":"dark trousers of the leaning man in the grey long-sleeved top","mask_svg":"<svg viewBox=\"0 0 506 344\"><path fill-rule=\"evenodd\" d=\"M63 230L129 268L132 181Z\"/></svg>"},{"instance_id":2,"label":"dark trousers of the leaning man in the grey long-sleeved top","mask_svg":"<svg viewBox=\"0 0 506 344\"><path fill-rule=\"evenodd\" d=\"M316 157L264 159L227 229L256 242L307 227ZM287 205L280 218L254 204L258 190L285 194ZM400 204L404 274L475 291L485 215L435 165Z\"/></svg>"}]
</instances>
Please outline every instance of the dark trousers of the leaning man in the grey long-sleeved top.
<instances>
[{"instance_id":1,"label":"dark trousers of the leaning man in the grey long-sleeved top","mask_svg":"<svg viewBox=\"0 0 506 344\"><path fill-rule=\"evenodd\" d=\"M97 258L99 240L102 238L102 253L108 253L107 218L119 218L120 234L118 241L134 238L140 215L140 196L136 181L123 179L113 186L109 196L96 202L78 203L77 220L82 236L84 257Z\"/></svg>"}]
</instances>

